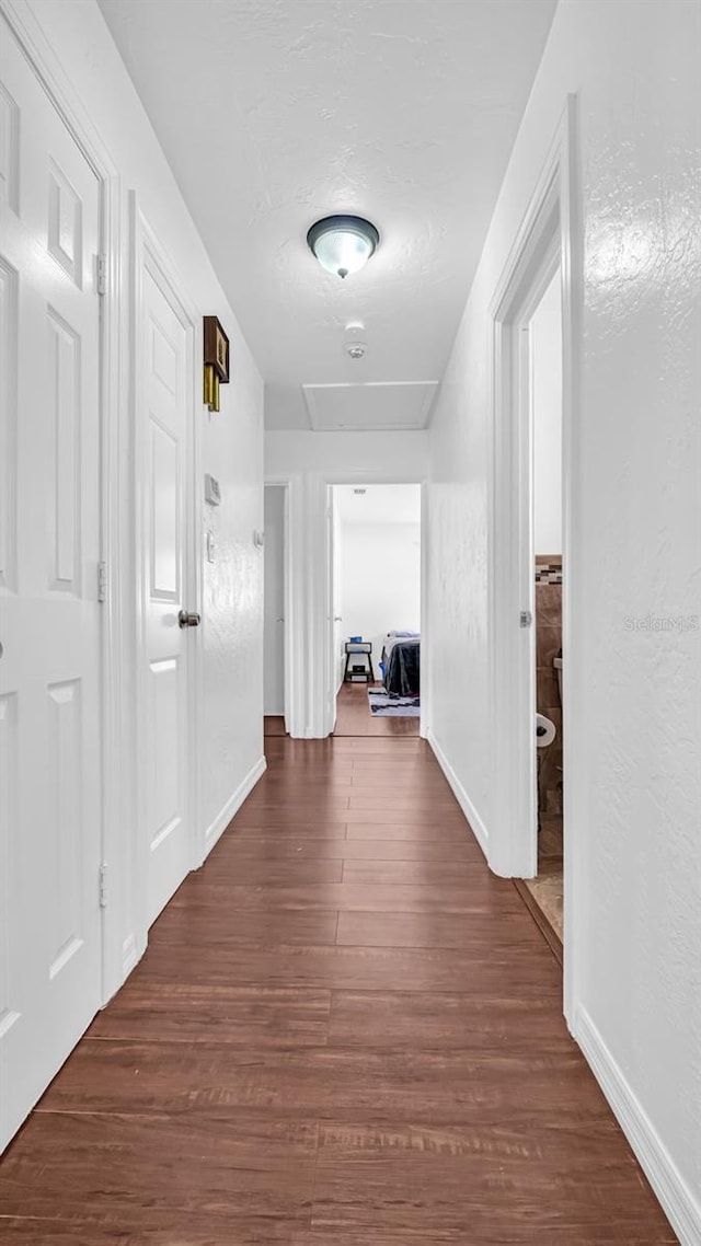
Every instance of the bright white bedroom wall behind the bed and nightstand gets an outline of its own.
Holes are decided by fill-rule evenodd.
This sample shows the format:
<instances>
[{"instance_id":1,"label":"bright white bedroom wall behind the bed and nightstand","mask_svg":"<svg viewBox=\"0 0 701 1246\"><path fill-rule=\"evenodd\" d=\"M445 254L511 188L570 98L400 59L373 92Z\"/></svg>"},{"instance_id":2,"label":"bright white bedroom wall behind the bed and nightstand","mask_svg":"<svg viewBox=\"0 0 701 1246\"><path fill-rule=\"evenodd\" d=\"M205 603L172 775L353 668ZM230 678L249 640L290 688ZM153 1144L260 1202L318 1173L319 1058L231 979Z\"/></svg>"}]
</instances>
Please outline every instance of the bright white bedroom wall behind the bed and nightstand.
<instances>
[{"instance_id":1,"label":"bright white bedroom wall behind the bed and nightstand","mask_svg":"<svg viewBox=\"0 0 701 1246\"><path fill-rule=\"evenodd\" d=\"M420 628L420 523L341 527L343 637L362 635L372 640L378 679L387 633Z\"/></svg>"}]
</instances>

